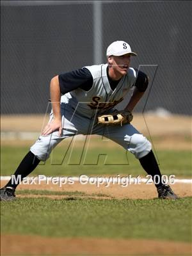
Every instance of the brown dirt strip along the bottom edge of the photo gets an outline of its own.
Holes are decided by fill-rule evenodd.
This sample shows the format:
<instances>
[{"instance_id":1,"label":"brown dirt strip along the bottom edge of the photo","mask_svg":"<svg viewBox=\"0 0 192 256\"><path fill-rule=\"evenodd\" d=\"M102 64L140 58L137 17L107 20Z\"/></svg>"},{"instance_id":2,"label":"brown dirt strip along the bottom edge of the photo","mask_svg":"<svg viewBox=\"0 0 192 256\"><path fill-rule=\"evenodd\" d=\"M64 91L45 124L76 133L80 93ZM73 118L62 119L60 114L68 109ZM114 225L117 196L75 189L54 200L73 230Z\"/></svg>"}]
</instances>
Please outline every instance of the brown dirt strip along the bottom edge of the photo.
<instances>
[{"instance_id":1,"label":"brown dirt strip along the bottom edge of the photo","mask_svg":"<svg viewBox=\"0 0 192 256\"><path fill-rule=\"evenodd\" d=\"M1 236L1 255L190 255L191 244L173 241Z\"/></svg>"}]
</instances>

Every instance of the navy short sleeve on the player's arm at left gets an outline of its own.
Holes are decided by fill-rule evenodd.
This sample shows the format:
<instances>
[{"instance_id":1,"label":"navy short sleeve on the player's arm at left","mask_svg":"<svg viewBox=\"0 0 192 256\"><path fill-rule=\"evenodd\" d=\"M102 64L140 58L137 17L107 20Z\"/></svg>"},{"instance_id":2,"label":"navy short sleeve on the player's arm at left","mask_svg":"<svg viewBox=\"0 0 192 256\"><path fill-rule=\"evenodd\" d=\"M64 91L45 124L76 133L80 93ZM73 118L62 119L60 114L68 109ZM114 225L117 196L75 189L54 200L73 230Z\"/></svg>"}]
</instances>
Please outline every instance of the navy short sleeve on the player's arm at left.
<instances>
[{"instance_id":1,"label":"navy short sleeve on the player's arm at left","mask_svg":"<svg viewBox=\"0 0 192 256\"><path fill-rule=\"evenodd\" d=\"M93 77L87 68L80 68L72 72L59 75L60 91L62 94L81 88L88 91L92 88Z\"/></svg>"}]
</instances>

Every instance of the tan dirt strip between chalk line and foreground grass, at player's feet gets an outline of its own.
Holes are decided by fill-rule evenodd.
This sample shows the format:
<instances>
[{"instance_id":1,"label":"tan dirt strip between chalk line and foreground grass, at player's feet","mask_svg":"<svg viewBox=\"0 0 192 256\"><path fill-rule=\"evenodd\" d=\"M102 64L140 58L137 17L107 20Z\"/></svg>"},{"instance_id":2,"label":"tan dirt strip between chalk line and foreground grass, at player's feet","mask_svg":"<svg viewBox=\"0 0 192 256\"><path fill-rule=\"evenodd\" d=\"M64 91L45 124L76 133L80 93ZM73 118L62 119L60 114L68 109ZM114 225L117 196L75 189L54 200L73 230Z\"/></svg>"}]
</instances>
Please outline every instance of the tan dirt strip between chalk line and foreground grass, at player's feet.
<instances>
[{"instance_id":1,"label":"tan dirt strip between chalk line and foreground grass, at player's feet","mask_svg":"<svg viewBox=\"0 0 192 256\"><path fill-rule=\"evenodd\" d=\"M6 184L5 181L1 180L1 186ZM192 196L192 186L191 184L182 184L176 183L172 185L173 190L180 197ZM45 184L45 182L41 182L38 184L25 185L20 184L18 186L18 191L22 189L37 189L37 190L49 190L49 191L65 191L65 192L83 192L84 196L76 197L86 197L86 198L108 198L108 199L152 199L157 197L157 191L153 184L130 184L127 187L122 187L118 184L114 184L106 188L104 184L100 185L99 188L96 184L80 184L79 182L74 182L74 184L65 184L60 186L58 184ZM102 195L102 196L101 196ZM33 197L36 195L18 195L18 197ZM67 195L42 195L51 197L54 199L66 198ZM69 195L70 196L70 195ZM70 196L71 197L71 196Z\"/></svg>"}]
</instances>

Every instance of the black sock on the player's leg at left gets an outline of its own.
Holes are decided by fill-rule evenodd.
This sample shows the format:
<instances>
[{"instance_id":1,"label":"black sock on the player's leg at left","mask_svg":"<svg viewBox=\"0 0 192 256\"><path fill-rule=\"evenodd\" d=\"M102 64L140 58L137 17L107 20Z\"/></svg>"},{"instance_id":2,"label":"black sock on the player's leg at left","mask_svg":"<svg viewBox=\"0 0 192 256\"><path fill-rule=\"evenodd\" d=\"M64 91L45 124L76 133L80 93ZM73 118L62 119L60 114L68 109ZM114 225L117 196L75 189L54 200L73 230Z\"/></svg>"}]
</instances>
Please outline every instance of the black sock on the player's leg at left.
<instances>
[{"instance_id":1,"label":"black sock on the player's leg at left","mask_svg":"<svg viewBox=\"0 0 192 256\"><path fill-rule=\"evenodd\" d=\"M24 177L28 176L29 173L33 172L33 170L38 166L40 163L40 160L31 152L29 151L28 154L22 159L20 162L17 170L15 171L15 181L10 179L8 184L6 184L6 187L12 187L12 188L17 188L19 185L19 182L16 182L17 178L21 177L21 180L24 179Z\"/></svg>"}]
</instances>

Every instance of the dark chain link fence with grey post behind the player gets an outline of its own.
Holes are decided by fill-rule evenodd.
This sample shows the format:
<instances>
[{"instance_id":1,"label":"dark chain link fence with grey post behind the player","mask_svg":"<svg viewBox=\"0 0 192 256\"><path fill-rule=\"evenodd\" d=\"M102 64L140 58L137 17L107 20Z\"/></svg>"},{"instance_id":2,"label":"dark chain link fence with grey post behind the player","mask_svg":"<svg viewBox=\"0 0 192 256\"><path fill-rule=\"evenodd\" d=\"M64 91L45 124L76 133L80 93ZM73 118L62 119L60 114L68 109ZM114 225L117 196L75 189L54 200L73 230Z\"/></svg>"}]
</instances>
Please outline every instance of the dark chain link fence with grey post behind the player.
<instances>
[{"instance_id":1,"label":"dark chain link fence with grey post behind the player","mask_svg":"<svg viewBox=\"0 0 192 256\"><path fill-rule=\"evenodd\" d=\"M191 1L1 1L1 113L45 113L53 76L92 65L98 42L106 63L125 40L150 77L136 111L191 115L191 11Z\"/></svg>"}]
</instances>

